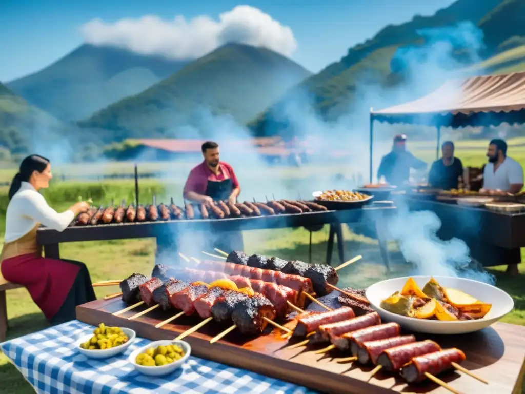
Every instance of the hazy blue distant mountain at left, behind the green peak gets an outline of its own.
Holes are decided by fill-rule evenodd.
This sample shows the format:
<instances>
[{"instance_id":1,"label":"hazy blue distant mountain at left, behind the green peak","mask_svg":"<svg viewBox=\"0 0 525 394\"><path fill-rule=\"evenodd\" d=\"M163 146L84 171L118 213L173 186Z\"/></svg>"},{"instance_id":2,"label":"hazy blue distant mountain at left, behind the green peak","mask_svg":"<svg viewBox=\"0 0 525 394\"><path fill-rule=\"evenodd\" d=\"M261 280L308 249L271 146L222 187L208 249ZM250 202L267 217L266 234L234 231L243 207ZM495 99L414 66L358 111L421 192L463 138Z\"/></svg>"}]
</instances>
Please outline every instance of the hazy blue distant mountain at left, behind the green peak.
<instances>
[{"instance_id":1,"label":"hazy blue distant mountain at left, behind the green peak","mask_svg":"<svg viewBox=\"0 0 525 394\"><path fill-rule=\"evenodd\" d=\"M187 61L85 44L7 86L58 119L79 120L114 101L137 94L185 64Z\"/></svg>"}]
</instances>

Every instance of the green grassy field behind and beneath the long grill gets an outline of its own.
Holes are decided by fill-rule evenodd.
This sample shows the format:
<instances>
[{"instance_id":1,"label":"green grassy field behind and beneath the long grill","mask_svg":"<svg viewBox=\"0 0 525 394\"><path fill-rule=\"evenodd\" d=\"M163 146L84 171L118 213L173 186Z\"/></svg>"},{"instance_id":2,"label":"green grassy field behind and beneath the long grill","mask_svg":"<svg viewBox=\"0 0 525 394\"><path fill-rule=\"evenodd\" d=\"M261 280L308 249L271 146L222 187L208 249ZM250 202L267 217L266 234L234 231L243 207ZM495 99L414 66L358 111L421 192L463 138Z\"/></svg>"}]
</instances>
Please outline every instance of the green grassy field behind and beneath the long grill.
<instances>
[{"instance_id":1,"label":"green grassy field behind and beneath the long grill","mask_svg":"<svg viewBox=\"0 0 525 394\"><path fill-rule=\"evenodd\" d=\"M486 162L486 141L459 141L457 143L457 155L465 164L480 165ZM525 138L509 141L509 155L525 164ZM413 143L411 149L419 157L430 161L435 157L435 142ZM151 171L162 171L169 168L171 171L177 170L185 172L182 167L173 163L148 163ZM61 169L62 170L62 169ZM86 167L71 166L67 171L86 171ZM127 163L106 163L104 165L90 165L87 171L109 171L125 172L133 171L132 164ZM239 172L243 172L240 169ZM345 167L319 167L313 168L305 166L301 169L278 168L275 178L269 180L250 179L248 174L243 186L245 191L253 188L276 191L276 188L290 190L310 190L312 179L325 179L327 187L330 186L334 174L348 173ZM9 178L13 170L0 170L0 178ZM170 195L181 195L182 182L185 175L164 184L158 181L141 180L141 199L142 201L151 200L153 195L161 199L167 199ZM278 183L279 186L275 186ZM262 186L261 186L262 184ZM263 187L264 186L264 187ZM321 187L321 186L320 186ZM111 200L119 202L126 198L133 200L133 182L131 180L111 181L104 183L97 182L57 182L52 188L45 191L46 199L57 210L65 209L78 196L91 196L95 202L108 203ZM4 229L5 208L7 188L0 189L0 231ZM264 192L262 192L264 194ZM266 192L268 193L268 192ZM270 192L271 193L271 192ZM268 195L269 196L269 195ZM249 198L248 196L247 198ZM167 201L167 200L166 200ZM247 253L262 253L276 255L282 258L296 258L308 261L308 242L309 233L304 229L282 229L282 230L259 230L244 232L245 250ZM0 234L0 244L3 236ZM392 272L387 273L379 254L377 242L373 239L356 235L351 230L345 230L345 252L346 256L351 257L357 254L363 255L363 259L352 266L349 266L340 273L340 285L353 287L366 287L378 280L387 277L396 277L409 274L411 265L407 264L397 250L395 244L391 244L391 257L393 261ZM328 228L325 227L319 232L312 234L312 261L324 262L327 248ZM90 270L92 281L104 279L118 279L130 275L132 272L149 273L154 264L154 241L150 239L142 240L119 240L107 242L79 242L63 244L60 248L61 255L65 258L79 259L85 262ZM81 256L81 257L79 257ZM524 256L525 257L525 256ZM523 259L525 260L525 259ZM489 271L497 278L497 286L505 289L513 298L516 307L503 321L513 324L525 325L525 292L523 291L523 274L525 264L520 264L520 275L517 277L507 277L503 274L505 266L491 268ZM97 296L102 297L106 294L114 293L115 288L97 288ZM7 292L9 332L8 339L34 332L47 327L47 323L39 309L32 302L25 289L17 289ZM30 393L33 392L30 385L22 378L16 368L8 362L8 359L0 354L0 392L1 393Z\"/></svg>"}]
</instances>

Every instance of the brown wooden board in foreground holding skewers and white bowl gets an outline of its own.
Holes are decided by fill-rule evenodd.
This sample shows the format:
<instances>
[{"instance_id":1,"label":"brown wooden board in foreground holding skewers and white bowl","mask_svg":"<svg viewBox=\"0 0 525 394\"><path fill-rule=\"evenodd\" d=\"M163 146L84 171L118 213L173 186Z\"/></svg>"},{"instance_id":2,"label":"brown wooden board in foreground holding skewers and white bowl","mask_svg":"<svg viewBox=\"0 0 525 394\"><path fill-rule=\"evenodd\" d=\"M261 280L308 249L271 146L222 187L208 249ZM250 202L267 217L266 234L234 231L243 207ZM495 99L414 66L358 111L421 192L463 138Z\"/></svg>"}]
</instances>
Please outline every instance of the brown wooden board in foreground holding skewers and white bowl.
<instances>
[{"instance_id":1,"label":"brown wooden board in foreground holding skewers and white bowl","mask_svg":"<svg viewBox=\"0 0 525 394\"><path fill-rule=\"evenodd\" d=\"M145 309L135 308L120 316L111 313L126 305L120 299L97 300L77 306L77 319L83 323L98 325L101 322L110 326L129 327L137 335L151 340L172 339L187 328L197 324L197 317L181 317L161 328L154 326L174 312L152 312L133 320L127 318ZM400 377L378 372L369 380L373 367L358 363L338 364L332 357L345 357L334 351L327 355L314 355L316 347L287 350L287 341L280 338L282 332L247 339L234 330L222 340L210 344L209 340L226 326L211 322L184 340L192 346L192 354L208 360L221 362L234 367L248 369L262 375L296 383L301 386L328 393L446 393L446 389L433 382L425 381L418 385L407 385ZM454 336L416 334L417 339L433 339L443 348L457 347L463 350L467 360L462 364L475 374L487 379L484 383L459 371L449 371L438 378L449 383L454 389L476 394L518 394L521 393L525 372L525 327L506 323L496 323L477 333ZM293 343L293 342L291 342Z\"/></svg>"}]
</instances>

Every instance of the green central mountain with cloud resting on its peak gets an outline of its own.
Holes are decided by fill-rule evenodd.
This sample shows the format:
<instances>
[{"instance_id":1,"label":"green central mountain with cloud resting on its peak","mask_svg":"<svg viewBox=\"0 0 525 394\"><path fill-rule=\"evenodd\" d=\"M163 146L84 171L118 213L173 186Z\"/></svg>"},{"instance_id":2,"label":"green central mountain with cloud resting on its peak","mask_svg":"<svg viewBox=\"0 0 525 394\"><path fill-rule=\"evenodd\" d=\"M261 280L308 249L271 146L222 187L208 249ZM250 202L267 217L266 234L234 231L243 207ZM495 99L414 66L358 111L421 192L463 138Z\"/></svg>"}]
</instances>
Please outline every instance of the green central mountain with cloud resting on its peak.
<instances>
[{"instance_id":1,"label":"green central mountain with cloud resting on its peak","mask_svg":"<svg viewBox=\"0 0 525 394\"><path fill-rule=\"evenodd\" d=\"M195 137L194 129L187 126L204 136L213 134L206 130L213 123L211 116L228 115L246 123L309 75L269 49L228 44L78 124L95 131L103 142L144 136Z\"/></svg>"}]
</instances>

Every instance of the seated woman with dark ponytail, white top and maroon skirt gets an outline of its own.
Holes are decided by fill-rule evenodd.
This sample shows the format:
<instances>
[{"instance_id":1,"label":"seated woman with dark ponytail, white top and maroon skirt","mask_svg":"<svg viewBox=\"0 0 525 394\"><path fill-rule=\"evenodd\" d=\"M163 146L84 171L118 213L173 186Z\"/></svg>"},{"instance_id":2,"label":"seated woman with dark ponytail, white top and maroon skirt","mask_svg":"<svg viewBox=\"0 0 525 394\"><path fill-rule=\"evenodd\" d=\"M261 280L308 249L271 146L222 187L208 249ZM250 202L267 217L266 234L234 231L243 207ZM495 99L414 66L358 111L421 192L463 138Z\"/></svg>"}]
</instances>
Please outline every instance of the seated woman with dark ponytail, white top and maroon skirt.
<instances>
[{"instance_id":1,"label":"seated woman with dark ponytail, white top and maroon skirt","mask_svg":"<svg viewBox=\"0 0 525 394\"><path fill-rule=\"evenodd\" d=\"M33 154L20 163L9 188L0 272L7 281L25 286L49 322L59 324L75 319L75 307L97 297L85 264L45 258L36 242L40 224L64 231L89 208L87 202L78 202L56 212L38 193L49 187L51 178L51 164L44 157Z\"/></svg>"}]
</instances>

